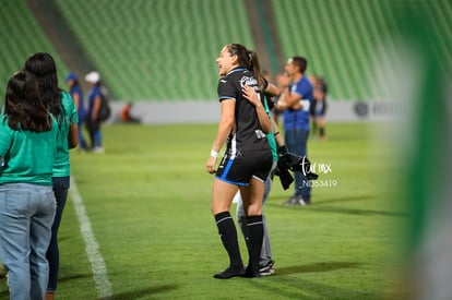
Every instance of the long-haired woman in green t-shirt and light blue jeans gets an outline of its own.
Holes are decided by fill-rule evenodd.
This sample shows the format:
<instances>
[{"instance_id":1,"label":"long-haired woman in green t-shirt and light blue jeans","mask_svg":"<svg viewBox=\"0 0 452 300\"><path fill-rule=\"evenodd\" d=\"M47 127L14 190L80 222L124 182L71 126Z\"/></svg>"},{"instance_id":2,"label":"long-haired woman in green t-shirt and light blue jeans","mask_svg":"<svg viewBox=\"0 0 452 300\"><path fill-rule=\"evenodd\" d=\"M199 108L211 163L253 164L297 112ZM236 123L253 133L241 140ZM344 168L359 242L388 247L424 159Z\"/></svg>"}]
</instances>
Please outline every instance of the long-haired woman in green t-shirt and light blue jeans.
<instances>
[{"instance_id":1,"label":"long-haired woman in green t-shirt and light blue jeans","mask_svg":"<svg viewBox=\"0 0 452 300\"><path fill-rule=\"evenodd\" d=\"M19 71L9 80L0 113L0 260L11 299L43 299L46 293L57 134L36 77Z\"/></svg>"}]
</instances>

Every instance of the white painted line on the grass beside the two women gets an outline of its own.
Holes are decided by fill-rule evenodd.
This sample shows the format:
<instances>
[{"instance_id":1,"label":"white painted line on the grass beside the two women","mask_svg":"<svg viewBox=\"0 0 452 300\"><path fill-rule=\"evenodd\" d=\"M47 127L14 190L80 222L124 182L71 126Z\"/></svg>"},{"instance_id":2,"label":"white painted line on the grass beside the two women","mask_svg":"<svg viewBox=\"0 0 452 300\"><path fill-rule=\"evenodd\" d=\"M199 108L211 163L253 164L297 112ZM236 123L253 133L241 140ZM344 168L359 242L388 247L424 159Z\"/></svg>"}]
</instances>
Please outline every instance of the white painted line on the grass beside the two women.
<instances>
[{"instance_id":1,"label":"white painted line on the grass beside the two women","mask_svg":"<svg viewBox=\"0 0 452 300\"><path fill-rule=\"evenodd\" d=\"M86 215L85 205L83 204L82 196L76 189L75 180L71 176L71 192L72 202L75 207L75 213L80 224L80 231L82 232L83 240L86 244L86 254L91 263L91 269L93 272L94 281L96 284L97 297L99 299L108 299L112 296L111 284L108 280L108 271L105 265L104 257L99 252L99 245L97 244L94 232L91 228L91 221Z\"/></svg>"}]
</instances>

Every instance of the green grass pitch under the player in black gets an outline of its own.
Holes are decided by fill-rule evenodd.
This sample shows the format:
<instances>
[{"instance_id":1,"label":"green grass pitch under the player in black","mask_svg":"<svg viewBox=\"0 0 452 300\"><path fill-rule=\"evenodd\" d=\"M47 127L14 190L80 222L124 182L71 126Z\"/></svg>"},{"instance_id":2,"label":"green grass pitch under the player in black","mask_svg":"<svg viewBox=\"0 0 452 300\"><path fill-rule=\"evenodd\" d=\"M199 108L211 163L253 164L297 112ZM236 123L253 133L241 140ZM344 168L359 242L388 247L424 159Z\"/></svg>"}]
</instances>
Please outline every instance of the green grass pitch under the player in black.
<instances>
[{"instance_id":1,"label":"green grass pitch under the player in black","mask_svg":"<svg viewBox=\"0 0 452 300\"><path fill-rule=\"evenodd\" d=\"M74 149L71 161L108 269L111 299L403 295L399 278L409 216L399 201L403 187L391 154L391 124L330 123L326 141L309 140L309 158L320 175L313 204L282 205L293 187L284 191L276 178L264 207L275 274L229 280L212 277L228 263L210 212L213 177L205 171L216 124L115 124L103 132L104 155ZM71 196L59 239L58 299L96 299ZM240 232L239 241L248 261ZM0 298L8 298L4 283Z\"/></svg>"}]
</instances>

